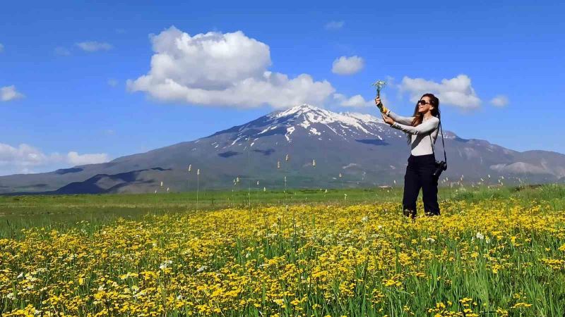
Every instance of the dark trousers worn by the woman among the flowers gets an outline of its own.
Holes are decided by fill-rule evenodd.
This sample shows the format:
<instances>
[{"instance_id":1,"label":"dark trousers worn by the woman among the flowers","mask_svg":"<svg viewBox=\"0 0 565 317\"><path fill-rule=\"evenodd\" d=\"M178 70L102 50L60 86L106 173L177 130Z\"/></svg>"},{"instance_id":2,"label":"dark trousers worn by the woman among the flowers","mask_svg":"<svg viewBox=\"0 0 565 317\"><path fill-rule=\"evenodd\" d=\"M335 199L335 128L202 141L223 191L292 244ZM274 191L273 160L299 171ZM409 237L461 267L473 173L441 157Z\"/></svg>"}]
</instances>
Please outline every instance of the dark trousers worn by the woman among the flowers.
<instances>
[{"instance_id":1,"label":"dark trousers worn by the woman among the flowers","mask_svg":"<svg viewBox=\"0 0 565 317\"><path fill-rule=\"evenodd\" d=\"M404 194L402 204L404 210L416 214L416 199L422 188L422 199L424 200L424 212L431 215L439 215L439 204L437 203L437 179L432 173L436 169L434 154L413 156L408 158L406 174L404 175Z\"/></svg>"}]
</instances>

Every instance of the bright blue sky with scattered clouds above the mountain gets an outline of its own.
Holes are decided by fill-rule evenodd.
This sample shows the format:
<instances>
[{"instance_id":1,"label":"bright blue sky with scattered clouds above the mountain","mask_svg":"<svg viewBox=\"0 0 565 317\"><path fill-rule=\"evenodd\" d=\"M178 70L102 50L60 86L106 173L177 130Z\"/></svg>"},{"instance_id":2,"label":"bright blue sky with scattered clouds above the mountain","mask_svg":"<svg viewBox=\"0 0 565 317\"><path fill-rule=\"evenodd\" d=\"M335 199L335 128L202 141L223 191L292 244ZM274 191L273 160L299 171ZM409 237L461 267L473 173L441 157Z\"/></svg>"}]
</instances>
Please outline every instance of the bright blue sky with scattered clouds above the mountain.
<instances>
[{"instance_id":1,"label":"bright blue sky with scattered clouds above the mountain","mask_svg":"<svg viewBox=\"0 0 565 317\"><path fill-rule=\"evenodd\" d=\"M446 130L518 151L565 153L562 1L99 2L3 4L0 175L204 137L283 108L284 89L333 111L378 115L367 106L370 84L386 78L393 84L386 106L397 113L410 115L422 89L437 89ZM231 60L190 50L208 32L215 33L205 44L237 35L225 48ZM190 47L179 56L172 45L183 36ZM152 66L157 53L179 59ZM287 81L265 80L264 71ZM231 75L210 77L222 73ZM301 74L310 86L300 84ZM153 82L136 82L144 75ZM160 89L167 76L182 89ZM226 97L247 77L256 78L251 91L268 89Z\"/></svg>"}]
</instances>

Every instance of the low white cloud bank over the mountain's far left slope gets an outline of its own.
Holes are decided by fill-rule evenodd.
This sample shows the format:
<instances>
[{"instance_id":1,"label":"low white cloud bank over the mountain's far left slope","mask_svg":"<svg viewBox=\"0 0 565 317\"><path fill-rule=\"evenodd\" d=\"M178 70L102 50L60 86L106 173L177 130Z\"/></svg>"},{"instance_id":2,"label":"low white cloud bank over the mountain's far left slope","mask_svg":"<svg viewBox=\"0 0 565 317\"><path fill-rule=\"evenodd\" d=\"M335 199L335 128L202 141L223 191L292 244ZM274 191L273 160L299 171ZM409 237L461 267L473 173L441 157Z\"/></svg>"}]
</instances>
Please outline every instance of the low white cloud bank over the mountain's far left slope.
<instances>
[{"instance_id":1,"label":"low white cloud bank over the mountain's far left slope","mask_svg":"<svg viewBox=\"0 0 565 317\"><path fill-rule=\"evenodd\" d=\"M107 154L45 154L28 144L12 147L0 143L0 174L33 173L34 170L54 170L61 167L78 166L109 161Z\"/></svg>"}]
</instances>

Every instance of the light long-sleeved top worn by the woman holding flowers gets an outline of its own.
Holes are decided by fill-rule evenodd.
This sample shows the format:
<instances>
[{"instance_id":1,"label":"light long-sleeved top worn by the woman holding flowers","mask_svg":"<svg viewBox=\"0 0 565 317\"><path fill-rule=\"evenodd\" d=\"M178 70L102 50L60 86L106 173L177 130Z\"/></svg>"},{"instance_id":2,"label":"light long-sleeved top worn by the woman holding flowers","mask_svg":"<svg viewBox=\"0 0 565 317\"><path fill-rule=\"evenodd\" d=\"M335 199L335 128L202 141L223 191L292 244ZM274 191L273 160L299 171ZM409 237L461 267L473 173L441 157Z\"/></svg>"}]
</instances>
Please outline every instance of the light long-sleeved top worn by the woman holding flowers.
<instances>
[{"instance_id":1,"label":"light long-sleeved top worn by the woman holding flowers","mask_svg":"<svg viewBox=\"0 0 565 317\"><path fill-rule=\"evenodd\" d=\"M413 156L426 155L434 153L432 147L436 144L436 138L439 133L439 118L432 116L424 119L420 125L412 126L414 117L403 117L393 113L390 109L386 115L395 121L391 127L409 133L411 137L410 153ZM429 139L429 135L432 139Z\"/></svg>"}]
</instances>

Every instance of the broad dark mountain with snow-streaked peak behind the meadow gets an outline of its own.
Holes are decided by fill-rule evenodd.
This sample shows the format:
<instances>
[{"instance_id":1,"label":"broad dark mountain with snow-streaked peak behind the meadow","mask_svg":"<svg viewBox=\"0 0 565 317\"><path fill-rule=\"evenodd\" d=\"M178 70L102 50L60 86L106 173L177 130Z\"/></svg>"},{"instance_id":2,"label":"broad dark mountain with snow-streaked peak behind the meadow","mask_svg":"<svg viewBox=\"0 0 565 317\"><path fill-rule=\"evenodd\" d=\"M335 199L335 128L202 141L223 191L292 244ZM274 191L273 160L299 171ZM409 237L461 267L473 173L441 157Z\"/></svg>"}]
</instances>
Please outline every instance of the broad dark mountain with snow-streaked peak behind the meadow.
<instances>
[{"instance_id":1,"label":"broad dark mountain with snow-streaked peak behind the meadow","mask_svg":"<svg viewBox=\"0 0 565 317\"><path fill-rule=\"evenodd\" d=\"M376 110L376 109L375 109ZM378 114L378 111L375 111ZM445 124L444 124L445 128ZM565 155L518 152L444 130L448 170L442 178L496 184L564 182ZM443 159L441 140L436 159ZM295 106L216 132L114 161L52 173L0 177L0 192L154 192L201 188L369 187L403 183L410 155L405 134L364 113ZM187 168L191 165L191 172ZM233 180L241 180L234 185ZM451 180L450 180L451 179ZM259 185L256 185L256 182Z\"/></svg>"}]
</instances>

